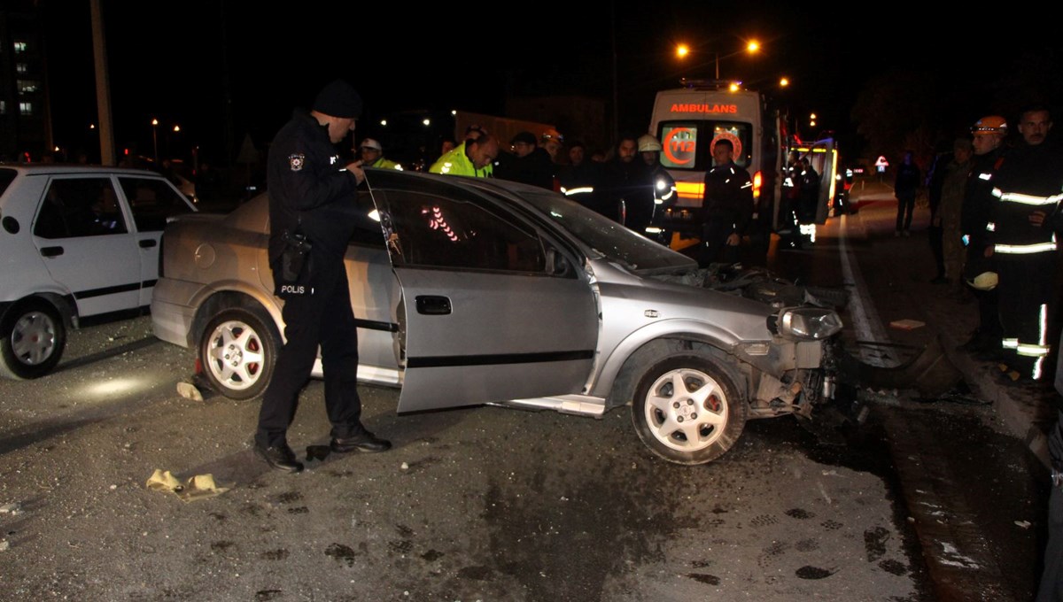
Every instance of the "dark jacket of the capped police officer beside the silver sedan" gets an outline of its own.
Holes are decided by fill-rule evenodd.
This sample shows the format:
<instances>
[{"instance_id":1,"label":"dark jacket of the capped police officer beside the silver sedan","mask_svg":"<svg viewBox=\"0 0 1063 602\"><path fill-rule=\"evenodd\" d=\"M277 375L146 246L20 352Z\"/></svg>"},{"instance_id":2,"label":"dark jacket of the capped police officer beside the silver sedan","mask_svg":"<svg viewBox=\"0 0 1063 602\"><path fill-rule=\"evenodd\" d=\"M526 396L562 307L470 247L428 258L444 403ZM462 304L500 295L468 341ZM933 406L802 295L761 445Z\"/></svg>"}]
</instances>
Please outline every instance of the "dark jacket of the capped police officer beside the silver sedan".
<instances>
[{"instance_id":1,"label":"dark jacket of the capped police officer beside the silver sedan","mask_svg":"<svg viewBox=\"0 0 1063 602\"><path fill-rule=\"evenodd\" d=\"M351 206L357 180L330 141L327 127L302 109L273 138L266 170L270 268L279 270L283 233L300 229L314 245L314 285L322 286L318 277L335 277L342 270L354 233Z\"/></svg>"}]
</instances>

